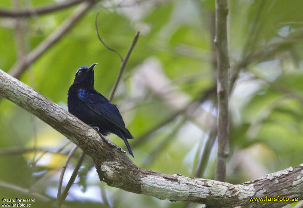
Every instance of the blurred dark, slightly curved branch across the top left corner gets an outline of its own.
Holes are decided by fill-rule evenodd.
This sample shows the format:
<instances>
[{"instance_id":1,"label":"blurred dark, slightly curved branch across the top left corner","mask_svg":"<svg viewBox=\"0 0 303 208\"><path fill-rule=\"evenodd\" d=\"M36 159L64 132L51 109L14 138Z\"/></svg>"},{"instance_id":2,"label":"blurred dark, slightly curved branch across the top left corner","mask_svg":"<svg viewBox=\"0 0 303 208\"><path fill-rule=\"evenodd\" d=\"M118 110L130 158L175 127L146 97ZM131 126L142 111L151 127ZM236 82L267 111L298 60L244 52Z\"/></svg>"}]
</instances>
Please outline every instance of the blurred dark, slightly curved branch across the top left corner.
<instances>
[{"instance_id":1,"label":"blurred dark, slightly curved branch across the top left corner","mask_svg":"<svg viewBox=\"0 0 303 208\"><path fill-rule=\"evenodd\" d=\"M36 8L33 10L24 10L24 11L14 11L14 10L12 11L12 10L0 9L0 16L11 17L11 18L30 17L32 14L46 14L52 11L64 9L79 4L84 1L87 0L64 1L55 5L48 5L48 6L43 6L41 8Z\"/></svg>"}]
</instances>

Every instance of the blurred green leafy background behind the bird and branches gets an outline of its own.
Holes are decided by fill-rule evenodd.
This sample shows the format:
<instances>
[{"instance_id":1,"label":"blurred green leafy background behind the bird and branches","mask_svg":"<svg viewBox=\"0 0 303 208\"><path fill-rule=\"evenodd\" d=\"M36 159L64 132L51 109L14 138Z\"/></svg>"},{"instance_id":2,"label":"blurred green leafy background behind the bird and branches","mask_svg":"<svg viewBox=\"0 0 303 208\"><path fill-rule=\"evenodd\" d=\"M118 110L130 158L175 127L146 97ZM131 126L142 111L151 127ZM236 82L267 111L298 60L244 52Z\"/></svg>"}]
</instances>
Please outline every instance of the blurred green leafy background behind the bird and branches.
<instances>
[{"instance_id":1,"label":"blurred green leafy background behind the bird and branches","mask_svg":"<svg viewBox=\"0 0 303 208\"><path fill-rule=\"evenodd\" d=\"M62 2L10 0L0 1L0 7L26 10ZM226 181L239 184L303 162L303 1L228 3L231 93ZM25 18L0 12L0 69L12 72L16 61L61 27L77 7L31 13ZM98 62L95 89L109 98L121 59L96 35L95 16L101 8L100 36L123 57L140 31L112 101L134 136L129 143L135 158L130 158L141 168L214 179L217 105L213 0L98 1L67 34L16 76L67 110L67 91L76 70ZM116 135L108 138L126 149ZM53 206L59 176L72 147L46 123L2 98L0 196L34 198L32 207ZM80 153L77 150L68 165L63 188ZM25 194L28 191L36 195ZM201 207L109 187L99 181L88 156L64 206Z\"/></svg>"}]
</instances>

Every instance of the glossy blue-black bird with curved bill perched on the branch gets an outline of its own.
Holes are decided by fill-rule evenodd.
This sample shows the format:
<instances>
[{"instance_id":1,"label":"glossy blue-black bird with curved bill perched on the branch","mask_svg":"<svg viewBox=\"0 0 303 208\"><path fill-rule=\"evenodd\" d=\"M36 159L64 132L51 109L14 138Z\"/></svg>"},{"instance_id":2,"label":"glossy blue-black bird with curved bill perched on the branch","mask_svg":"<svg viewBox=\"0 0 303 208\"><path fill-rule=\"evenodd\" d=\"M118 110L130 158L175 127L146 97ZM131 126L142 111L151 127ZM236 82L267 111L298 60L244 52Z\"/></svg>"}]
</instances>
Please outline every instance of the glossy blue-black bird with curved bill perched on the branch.
<instances>
[{"instance_id":1,"label":"glossy blue-black bird with curved bill perched on the branch","mask_svg":"<svg viewBox=\"0 0 303 208\"><path fill-rule=\"evenodd\" d=\"M94 88L94 67L97 64L81 66L77 70L74 83L68 89L68 112L95 127L104 136L109 133L119 136L125 142L129 154L134 157L127 141L134 137L125 127L118 108Z\"/></svg>"}]
</instances>

